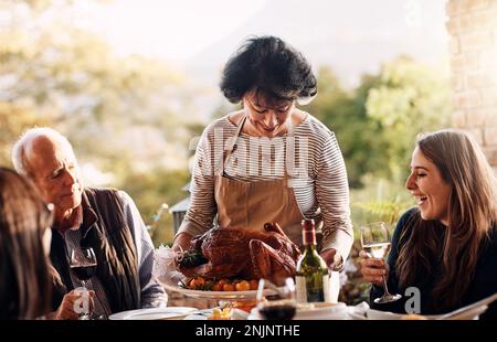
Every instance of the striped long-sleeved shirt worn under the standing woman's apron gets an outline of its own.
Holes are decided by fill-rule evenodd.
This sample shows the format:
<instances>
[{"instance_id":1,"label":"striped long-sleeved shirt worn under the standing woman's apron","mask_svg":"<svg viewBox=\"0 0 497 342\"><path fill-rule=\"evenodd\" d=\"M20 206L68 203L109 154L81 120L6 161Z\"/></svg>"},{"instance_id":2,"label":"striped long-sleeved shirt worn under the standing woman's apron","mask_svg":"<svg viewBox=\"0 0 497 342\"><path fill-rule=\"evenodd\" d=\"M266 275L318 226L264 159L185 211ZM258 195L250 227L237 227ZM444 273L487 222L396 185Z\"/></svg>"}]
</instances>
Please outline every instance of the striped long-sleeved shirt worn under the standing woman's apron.
<instances>
[{"instance_id":1,"label":"striped long-sleeved shirt worn under the standing woman's apron","mask_svg":"<svg viewBox=\"0 0 497 342\"><path fill-rule=\"evenodd\" d=\"M203 234L216 215L214 175L236 126L226 117L209 125L200 138L190 183L190 207L178 232ZM282 179L287 170L304 217L322 215L322 250L336 248L343 259L353 243L347 171L335 133L311 115L294 127L295 161L286 158L288 136L257 138L241 133L224 175L257 182ZM295 164L295 169L285 165ZM293 171L293 170L296 170Z\"/></svg>"}]
</instances>

